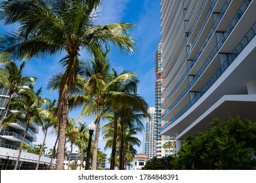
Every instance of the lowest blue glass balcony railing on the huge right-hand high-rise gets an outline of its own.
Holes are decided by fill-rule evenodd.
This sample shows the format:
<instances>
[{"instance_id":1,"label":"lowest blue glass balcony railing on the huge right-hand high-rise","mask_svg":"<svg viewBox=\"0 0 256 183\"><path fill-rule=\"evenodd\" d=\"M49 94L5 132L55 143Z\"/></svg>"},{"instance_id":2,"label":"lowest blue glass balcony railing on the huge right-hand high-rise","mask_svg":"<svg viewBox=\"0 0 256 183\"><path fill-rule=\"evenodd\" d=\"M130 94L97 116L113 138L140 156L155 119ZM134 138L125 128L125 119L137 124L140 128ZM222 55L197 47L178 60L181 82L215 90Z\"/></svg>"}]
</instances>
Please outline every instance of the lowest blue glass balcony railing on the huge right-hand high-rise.
<instances>
[{"instance_id":1,"label":"lowest blue glass balcony railing on the huge right-hand high-rise","mask_svg":"<svg viewBox=\"0 0 256 183\"><path fill-rule=\"evenodd\" d=\"M244 50L245 46L247 46L247 44L251 41L251 39L253 39L253 37L255 37L255 35L256 35L256 23L251 27L251 29L249 29L249 31L247 32L245 37L242 39L242 41L240 41L238 46L236 46L236 48L232 51L230 56L228 56L228 58L224 61L223 65L221 65L221 67L217 70L215 75L213 75L211 79L207 82L207 84L205 84L202 90L198 92L198 94L190 101L190 103L188 103L188 105L186 105L186 107L182 108L182 110L178 114L176 114L167 124L163 125L161 127L161 130L165 129L166 127L171 125L173 122L175 122L175 120L181 117L181 115L184 114L184 112L186 112L190 107L192 107L192 105L194 105L194 103L196 103L196 101L198 101L198 99L200 99L200 97L202 97L202 95L205 92L207 92L209 88L211 88L211 86L224 73L224 71L226 71L228 66L231 65L234 59L237 58L237 56L242 52L242 50Z\"/></svg>"}]
</instances>

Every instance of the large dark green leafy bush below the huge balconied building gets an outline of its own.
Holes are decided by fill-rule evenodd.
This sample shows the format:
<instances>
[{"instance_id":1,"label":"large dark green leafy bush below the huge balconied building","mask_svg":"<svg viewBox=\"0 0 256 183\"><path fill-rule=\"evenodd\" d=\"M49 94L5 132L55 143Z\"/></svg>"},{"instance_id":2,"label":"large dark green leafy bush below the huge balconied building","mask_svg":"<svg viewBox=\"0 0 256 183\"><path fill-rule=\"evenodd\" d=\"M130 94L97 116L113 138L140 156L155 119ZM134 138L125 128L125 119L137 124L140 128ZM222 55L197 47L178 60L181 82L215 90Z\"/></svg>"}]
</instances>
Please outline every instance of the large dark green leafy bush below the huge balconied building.
<instances>
[{"instance_id":1,"label":"large dark green leafy bush below the huge balconied building","mask_svg":"<svg viewBox=\"0 0 256 183\"><path fill-rule=\"evenodd\" d=\"M210 122L211 130L185 139L177 169L256 169L256 123L228 117Z\"/></svg>"}]
</instances>

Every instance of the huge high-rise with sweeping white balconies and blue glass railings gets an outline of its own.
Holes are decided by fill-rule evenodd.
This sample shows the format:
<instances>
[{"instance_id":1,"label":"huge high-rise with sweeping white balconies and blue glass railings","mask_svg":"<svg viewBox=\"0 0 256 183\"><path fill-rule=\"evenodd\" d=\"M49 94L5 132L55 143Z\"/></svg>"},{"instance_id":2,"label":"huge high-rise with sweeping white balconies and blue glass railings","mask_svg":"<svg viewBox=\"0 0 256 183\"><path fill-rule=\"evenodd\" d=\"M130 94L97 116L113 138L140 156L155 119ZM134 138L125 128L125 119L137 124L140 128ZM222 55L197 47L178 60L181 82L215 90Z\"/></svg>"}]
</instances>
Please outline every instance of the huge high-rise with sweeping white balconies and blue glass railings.
<instances>
[{"instance_id":1,"label":"huge high-rise with sweeping white balconies and blue glass railings","mask_svg":"<svg viewBox=\"0 0 256 183\"><path fill-rule=\"evenodd\" d=\"M161 0L161 135L256 120L256 1Z\"/></svg>"}]
</instances>

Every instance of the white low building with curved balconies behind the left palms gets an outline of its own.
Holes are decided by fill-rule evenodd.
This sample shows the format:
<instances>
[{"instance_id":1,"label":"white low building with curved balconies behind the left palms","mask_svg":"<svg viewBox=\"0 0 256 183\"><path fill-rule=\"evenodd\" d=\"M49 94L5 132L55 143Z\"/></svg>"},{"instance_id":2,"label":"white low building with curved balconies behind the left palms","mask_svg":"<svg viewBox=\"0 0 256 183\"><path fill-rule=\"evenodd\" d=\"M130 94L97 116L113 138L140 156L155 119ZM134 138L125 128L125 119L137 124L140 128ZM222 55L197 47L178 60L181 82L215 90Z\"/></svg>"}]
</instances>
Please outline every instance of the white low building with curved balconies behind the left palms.
<instances>
[{"instance_id":1,"label":"white low building with curved balconies behind the left palms","mask_svg":"<svg viewBox=\"0 0 256 183\"><path fill-rule=\"evenodd\" d=\"M7 88L0 88L0 120L3 117L3 110L9 98L9 90ZM9 112L15 112L15 110L9 110ZM18 157L18 146L22 142L26 125L22 123L25 115L20 116L20 119L14 120L8 127L2 127L0 129L0 169L14 169L16 159ZM25 144L34 148L33 142L37 142L37 135L39 133L38 125L33 122L28 127L28 133L26 135ZM18 169L28 170L35 169L37 159L39 156L28 149L23 149L20 156L20 164ZM47 169L51 162L51 158L46 155L41 156L39 169ZM53 167L55 166L55 160L53 161Z\"/></svg>"}]
</instances>

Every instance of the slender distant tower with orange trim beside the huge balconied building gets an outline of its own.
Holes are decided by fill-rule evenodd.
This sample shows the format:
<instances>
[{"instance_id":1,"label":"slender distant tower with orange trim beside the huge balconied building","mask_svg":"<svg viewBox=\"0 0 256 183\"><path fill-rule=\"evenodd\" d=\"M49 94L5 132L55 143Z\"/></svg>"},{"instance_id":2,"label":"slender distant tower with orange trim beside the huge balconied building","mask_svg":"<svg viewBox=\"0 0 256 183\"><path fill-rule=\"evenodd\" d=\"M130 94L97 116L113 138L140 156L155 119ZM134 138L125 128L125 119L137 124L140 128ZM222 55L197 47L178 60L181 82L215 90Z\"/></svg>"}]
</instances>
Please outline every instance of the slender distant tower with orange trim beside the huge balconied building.
<instances>
[{"instance_id":1,"label":"slender distant tower with orange trim beside the huge balconied building","mask_svg":"<svg viewBox=\"0 0 256 183\"><path fill-rule=\"evenodd\" d=\"M163 112L163 109L161 109L161 102L163 99L161 99L161 91L163 90L161 88L161 82L163 81L163 78L161 77L161 53L163 52L161 50L162 43L160 42L158 46L156 47L156 57L155 57L155 74L156 74L156 82L155 82L155 105L156 105L156 130L155 130L155 137L156 137L156 157L161 158L163 156L167 156L169 154L173 154L173 150L169 152L169 150L163 148L163 144L167 143L168 141L173 141L172 137L167 135L161 135L161 126L165 125L165 122L161 120L161 112ZM168 151L168 152L167 152Z\"/></svg>"}]
</instances>

